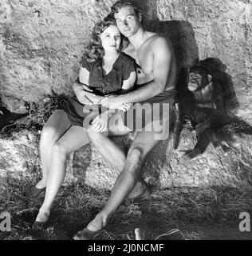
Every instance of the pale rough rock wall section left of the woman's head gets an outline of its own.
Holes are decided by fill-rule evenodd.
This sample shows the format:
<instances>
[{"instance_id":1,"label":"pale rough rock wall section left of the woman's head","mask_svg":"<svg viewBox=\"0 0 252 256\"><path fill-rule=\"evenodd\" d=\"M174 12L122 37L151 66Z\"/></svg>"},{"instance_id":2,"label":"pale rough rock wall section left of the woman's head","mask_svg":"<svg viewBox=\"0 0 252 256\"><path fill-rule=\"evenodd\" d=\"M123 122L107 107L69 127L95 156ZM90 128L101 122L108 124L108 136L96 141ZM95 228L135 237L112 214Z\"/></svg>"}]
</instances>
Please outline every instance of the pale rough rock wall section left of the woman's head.
<instances>
[{"instance_id":1,"label":"pale rough rock wall section left of the woman's head","mask_svg":"<svg viewBox=\"0 0 252 256\"><path fill-rule=\"evenodd\" d=\"M51 90L69 92L85 42L109 1L2 0L0 3L0 94L37 102ZM11 104L11 102L13 102Z\"/></svg>"}]
</instances>

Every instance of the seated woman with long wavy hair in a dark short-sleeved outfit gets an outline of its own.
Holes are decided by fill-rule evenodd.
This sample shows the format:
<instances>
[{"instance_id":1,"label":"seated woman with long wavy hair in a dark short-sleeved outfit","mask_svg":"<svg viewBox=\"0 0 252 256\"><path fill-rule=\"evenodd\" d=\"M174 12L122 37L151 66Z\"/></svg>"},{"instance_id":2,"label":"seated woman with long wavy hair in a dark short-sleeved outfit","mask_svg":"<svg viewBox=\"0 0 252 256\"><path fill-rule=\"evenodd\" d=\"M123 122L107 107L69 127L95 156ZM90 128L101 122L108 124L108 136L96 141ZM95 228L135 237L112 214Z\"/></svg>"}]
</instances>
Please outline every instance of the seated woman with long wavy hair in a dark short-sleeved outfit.
<instances>
[{"instance_id":1,"label":"seated woman with long wavy hair in a dark short-sleeved outfit","mask_svg":"<svg viewBox=\"0 0 252 256\"><path fill-rule=\"evenodd\" d=\"M49 219L53 200L65 178L67 155L85 146L90 141L89 133L106 130L108 110L98 105L100 100L108 94L128 91L136 82L135 62L121 53L121 48L122 39L116 22L105 19L96 23L79 74L85 90L93 91L93 94L87 92L85 99L74 97L61 102L41 133L43 176L36 186L30 188L27 195L37 197L45 188L46 190L45 200L33 223L33 229L41 227ZM115 106L115 109L128 110L128 107Z\"/></svg>"}]
</instances>

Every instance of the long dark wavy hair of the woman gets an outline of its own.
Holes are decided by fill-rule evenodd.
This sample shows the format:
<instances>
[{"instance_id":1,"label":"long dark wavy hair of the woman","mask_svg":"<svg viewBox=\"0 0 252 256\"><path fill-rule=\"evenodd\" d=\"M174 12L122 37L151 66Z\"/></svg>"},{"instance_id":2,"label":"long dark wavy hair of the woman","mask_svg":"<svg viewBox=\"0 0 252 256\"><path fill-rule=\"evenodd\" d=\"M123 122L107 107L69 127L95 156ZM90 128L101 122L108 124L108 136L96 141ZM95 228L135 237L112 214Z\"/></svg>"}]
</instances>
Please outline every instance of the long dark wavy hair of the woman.
<instances>
[{"instance_id":1,"label":"long dark wavy hair of the woman","mask_svg":"<svg viewBox=\"0 0 252 256\"><path fill-rule=\"evenodd\" d=\"M93 28L91 39L89 44L85 47L85 53L83 58L86 58L87 62L100 61L104 56L104 49L101 45L100 34L108 28L108 26L116 26L116 20L109 14L103 21L96 22ZM120 34L121 42L119 50L123 50L127 44L127 38Z\"/></svg>"}]
</instances>

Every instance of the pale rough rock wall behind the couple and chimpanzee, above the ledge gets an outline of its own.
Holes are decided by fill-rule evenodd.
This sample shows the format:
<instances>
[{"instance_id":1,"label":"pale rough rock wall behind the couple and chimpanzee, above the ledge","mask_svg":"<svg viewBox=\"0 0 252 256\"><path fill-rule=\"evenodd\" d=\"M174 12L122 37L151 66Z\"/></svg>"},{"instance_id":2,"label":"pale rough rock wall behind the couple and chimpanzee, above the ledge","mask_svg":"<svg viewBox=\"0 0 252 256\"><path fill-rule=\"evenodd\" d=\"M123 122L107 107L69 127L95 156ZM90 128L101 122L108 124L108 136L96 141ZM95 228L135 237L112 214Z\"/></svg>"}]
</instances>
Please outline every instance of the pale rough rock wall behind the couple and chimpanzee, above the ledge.
<instances>
[{"instance_id":1,"label":"pale rough rock wall behind the couple and chimpanzee, above the ledge","mask_svg":"<svg viewBox=\"0 0 252 256\"><path fill-rule=\"evenodd\" d=\"M0 94L10 109L69 92L94 23L115 0L2 0ZM250 0L140 0L149 29L171 38L179 66L219 58L230 74L238 115L252 123ZM19 100L17 102L17 99Z\"/></svg>"}]
</instances>

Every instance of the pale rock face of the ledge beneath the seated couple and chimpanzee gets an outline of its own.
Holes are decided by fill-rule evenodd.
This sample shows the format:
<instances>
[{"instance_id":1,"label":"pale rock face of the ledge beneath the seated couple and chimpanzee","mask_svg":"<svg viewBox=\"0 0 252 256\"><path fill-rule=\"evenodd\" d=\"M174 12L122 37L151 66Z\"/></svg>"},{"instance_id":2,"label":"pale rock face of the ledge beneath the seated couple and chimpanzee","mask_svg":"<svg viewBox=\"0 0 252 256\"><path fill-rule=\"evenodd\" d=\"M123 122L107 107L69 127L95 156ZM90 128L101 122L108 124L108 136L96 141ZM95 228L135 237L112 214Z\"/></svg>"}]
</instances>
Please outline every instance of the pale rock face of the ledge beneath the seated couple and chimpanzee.
<instances>
[{"instance_id":1,"label":"pale rock face of the ledge beneath the seated couple and chimpanzee","mask_svg":"<svg viewBox=\"0 0 252 256\"><path fill-rule=\"evenodd\" d=\"M135 135L131 133L113 140L127 150ZM27 180L38 178L41 173L39 137L39 132L22 130L0 138L2 181L10 176ZM192 136L183 130L177 150L173 150L172 138L159 142L152 150L144 163L143 177L156 188L229 186L251 190L252 135L233 134L233 138L226 154L220 154L210 144L203 154L182 165L179 158L183 150L194 145ZM117 174L89 144L70 154L65 182L84 182L97 189L111 190Z\"/></svg>"}]
</instances>

